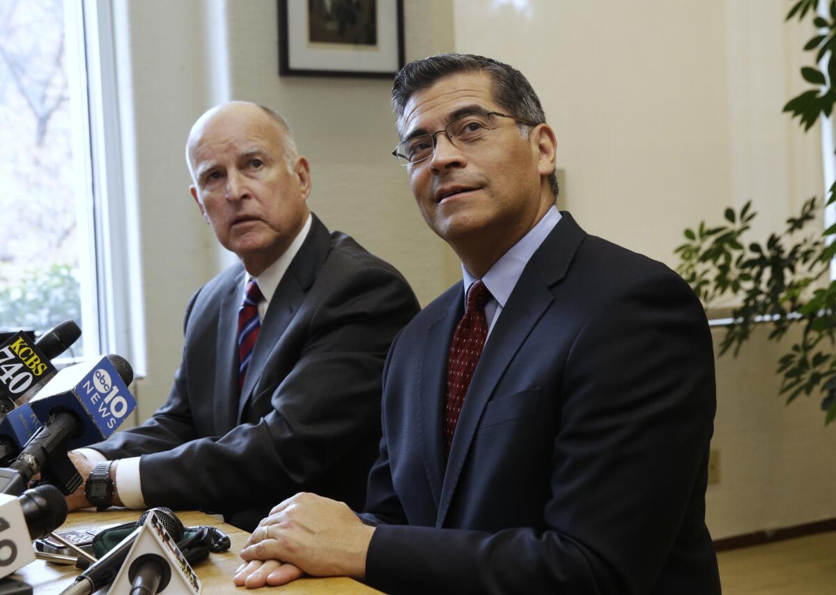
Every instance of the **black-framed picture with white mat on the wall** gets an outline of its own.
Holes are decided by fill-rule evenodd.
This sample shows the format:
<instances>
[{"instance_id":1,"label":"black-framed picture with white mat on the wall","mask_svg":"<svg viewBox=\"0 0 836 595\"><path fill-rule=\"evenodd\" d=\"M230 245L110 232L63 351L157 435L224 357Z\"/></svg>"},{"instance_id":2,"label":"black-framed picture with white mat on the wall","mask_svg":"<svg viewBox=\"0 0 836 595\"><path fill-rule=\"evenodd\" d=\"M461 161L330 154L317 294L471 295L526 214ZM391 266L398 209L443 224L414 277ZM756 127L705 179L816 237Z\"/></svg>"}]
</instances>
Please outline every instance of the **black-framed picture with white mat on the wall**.
<instances>
[{"instance_id":1,"label":"black-framed picture with white mat on the wall","mask_svg":"<svg viewBox=\"0 0 836 595\"><path fill-rule=\"evenodd\" d=\"M403 13L403 0L278 0L278 74L391 79Z\"/></svg>"}]
</instances>

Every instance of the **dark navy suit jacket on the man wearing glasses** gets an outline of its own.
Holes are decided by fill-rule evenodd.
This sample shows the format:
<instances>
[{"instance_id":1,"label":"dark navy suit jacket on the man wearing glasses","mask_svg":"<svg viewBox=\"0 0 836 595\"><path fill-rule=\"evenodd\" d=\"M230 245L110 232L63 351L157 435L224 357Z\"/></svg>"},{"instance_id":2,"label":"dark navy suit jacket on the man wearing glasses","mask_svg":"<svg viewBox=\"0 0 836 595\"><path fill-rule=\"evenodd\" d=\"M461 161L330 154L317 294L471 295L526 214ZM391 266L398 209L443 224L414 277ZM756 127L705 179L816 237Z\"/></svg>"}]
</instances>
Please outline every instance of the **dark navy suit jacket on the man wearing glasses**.
<instances>
[{"instance_id":1,"label":"dark navy suit jacket on the man wearing glasses","mask_svg":"<svg viewBox=\"0 0 836 595\"><path fill-rule=\"evenodd\" d=\"M706 317L659 262L568 213L441 420L461 283L395 339L366 519L386 592L720 592L705 526L716 407Z\"/></svg>"}]
</instances>

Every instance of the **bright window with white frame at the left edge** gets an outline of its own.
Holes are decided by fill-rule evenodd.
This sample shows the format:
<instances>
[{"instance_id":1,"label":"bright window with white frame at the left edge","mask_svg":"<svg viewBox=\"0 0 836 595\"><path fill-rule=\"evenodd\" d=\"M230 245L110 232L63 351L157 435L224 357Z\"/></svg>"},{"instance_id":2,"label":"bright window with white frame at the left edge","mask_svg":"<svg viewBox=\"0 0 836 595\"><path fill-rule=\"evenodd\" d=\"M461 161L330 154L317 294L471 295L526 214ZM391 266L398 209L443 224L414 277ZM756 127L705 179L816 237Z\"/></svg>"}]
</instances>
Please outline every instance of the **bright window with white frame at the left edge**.
<instances>
[{"instance_id":1,"label":"bright window with white frame at the left edge","mask_svg":"<svg viewBox=\"0 0 836 595\"><path fill-rule=\"evenodd\" d=\"M115 73L109 1L0 3L0 329L135 363Z\"/></svg>"}]
</instances>

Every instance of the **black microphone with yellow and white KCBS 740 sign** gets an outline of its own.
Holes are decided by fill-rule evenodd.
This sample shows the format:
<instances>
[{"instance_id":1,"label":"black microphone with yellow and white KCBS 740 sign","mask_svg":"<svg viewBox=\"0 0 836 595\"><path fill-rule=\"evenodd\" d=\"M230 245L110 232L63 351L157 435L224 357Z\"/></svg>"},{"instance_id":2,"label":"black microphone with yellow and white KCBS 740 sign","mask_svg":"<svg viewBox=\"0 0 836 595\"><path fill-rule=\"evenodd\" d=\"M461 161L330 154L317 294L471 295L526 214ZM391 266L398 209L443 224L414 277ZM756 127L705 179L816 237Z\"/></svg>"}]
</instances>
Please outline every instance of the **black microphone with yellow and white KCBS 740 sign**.
<instances>
[{"instance_id":1,"label":"black microphone with yellow and white KCBS 740 sign","mask_svg":"<svg viewBox=\"0 0 836 595\"><path fill-rule=\"evenodd\" d=\"M34 343L20 331L0 346L0 414L26 403L57 370L50 362L81 336L72 320L55 325Z\"/></svg>"}]
</instances>

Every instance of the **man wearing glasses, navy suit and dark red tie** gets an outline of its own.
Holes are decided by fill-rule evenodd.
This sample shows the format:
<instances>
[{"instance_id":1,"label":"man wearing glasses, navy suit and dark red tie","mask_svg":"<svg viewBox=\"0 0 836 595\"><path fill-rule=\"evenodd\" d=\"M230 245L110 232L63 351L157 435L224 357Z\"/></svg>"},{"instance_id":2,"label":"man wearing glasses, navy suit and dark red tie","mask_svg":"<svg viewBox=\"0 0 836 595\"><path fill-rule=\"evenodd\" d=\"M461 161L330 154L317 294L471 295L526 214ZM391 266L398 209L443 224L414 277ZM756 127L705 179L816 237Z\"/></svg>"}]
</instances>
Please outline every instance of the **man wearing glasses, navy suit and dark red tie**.
<instances>
[{"instance_id":1,"label":"man wearing glasses, navy suit and dark red tie","mask_svg":"<svg viewBox=\"0 0 836 595\"><path fill-rule=\"evenodd\" d=\"M293 496L253 532L235 581L719 593L714 362L696 296L557 211L554 134L517 70L426 58L395 77L393 103L395 154L464 282L390 349L363 521Z\"/></svg>"}]
</instances>

